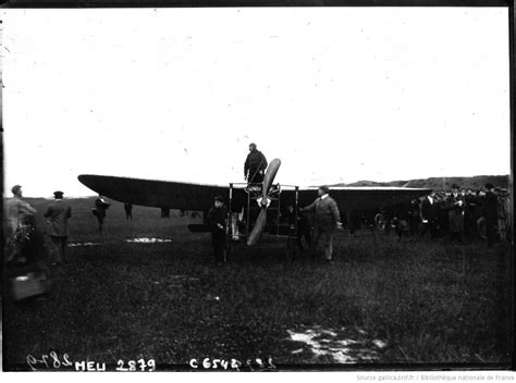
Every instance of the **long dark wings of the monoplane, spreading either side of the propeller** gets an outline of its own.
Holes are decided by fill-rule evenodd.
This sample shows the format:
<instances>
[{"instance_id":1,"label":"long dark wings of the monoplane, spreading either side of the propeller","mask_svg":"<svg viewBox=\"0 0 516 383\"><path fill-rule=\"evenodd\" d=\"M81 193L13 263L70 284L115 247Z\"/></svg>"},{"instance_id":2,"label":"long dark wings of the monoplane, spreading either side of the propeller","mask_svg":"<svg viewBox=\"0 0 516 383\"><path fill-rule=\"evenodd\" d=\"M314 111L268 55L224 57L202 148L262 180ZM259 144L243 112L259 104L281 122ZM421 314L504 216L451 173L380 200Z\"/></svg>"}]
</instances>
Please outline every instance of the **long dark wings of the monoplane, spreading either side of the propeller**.
<instances>
[{"instance_id":1,"label":"long dark wings of the monoplane, spreading either side of the propeller","mask_svg":"<svg viewBox=\"0 0 516 383\"><path fill-rule=\"evenodd\" d=\"M148 207L168 207L170 209L207 211L213 206L217 195L229 201L228 185L206 185L169 181L139 180L107 175L82 174L78 181L91 190L121 202ZM354 211L376 209L407 202L429 194L430 189L407 187L331 187L339 210ZM298 203L305 207L317 198L317 187L302 187L298 190ZM281 205L295 205L295 188L282 187ZM233 189L232 208L239 210L247 205L247 195L243 187Z\"/></svg>"}]
</instances>

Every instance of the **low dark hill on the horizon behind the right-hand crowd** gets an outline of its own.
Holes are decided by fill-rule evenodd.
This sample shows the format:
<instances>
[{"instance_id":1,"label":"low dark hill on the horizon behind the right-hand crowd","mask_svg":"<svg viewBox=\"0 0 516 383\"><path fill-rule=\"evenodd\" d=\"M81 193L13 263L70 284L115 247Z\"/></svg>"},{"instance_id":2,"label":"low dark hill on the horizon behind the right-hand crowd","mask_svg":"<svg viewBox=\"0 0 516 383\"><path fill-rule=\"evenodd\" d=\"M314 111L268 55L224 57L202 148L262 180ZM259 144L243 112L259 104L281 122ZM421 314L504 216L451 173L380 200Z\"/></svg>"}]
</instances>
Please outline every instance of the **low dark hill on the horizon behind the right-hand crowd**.
<instances>
[{"instance_id":1,"label":"low dark hill on the horizon behind the right-hand crowd","mask_svg":"<svg viewBox=\"0 0 516 383\"><path fill-rule=\"evenodd\" d=\"M434 190L450 190L453 184L457 184L460 188L471 188L474 190L483 189L483 185L488 182L492 183L494 187L508 188L507 175L476 175L472 177L430 177L425 180L408 180L408 181L391 181L391 182L374 182L374 181L358 181L351 184L336 184L331 186L395 186L395 187L422 187Z\"/></svg>"}]
</instances>

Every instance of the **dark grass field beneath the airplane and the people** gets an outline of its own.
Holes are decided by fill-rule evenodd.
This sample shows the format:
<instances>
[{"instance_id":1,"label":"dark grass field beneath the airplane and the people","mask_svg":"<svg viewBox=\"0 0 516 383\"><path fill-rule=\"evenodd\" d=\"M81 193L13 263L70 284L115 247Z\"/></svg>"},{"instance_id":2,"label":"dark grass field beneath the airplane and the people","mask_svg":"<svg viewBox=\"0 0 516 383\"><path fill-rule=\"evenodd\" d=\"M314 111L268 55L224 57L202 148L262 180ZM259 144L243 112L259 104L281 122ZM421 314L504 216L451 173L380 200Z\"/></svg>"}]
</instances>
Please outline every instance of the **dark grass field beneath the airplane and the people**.
<instances>
[{"instance_id":1,"label":"dark grass field beneath the airplane and the people","mask_svg":"<svg viewBox=\"0 0 516 383\"><path fill-rule=\"evenodd\" d=\"M49 202L29 201L39 215ZM216 268L210 235L189 233L188 217L163 220L159 209L135 207L126 221L114 202L99 233L93 199L70 203L77 246L67 264L50 268L51 293L3 299L5 370L28 370L27 355L51 350L112 366L155 359L167 369L189 369L193 358L272 358L299 369L511 362L508 246L344 231L333 264L286 260L284 239L269 239L237 246ZM140 237L170 242L125 242Z\"/></svg>"}]
</instances>

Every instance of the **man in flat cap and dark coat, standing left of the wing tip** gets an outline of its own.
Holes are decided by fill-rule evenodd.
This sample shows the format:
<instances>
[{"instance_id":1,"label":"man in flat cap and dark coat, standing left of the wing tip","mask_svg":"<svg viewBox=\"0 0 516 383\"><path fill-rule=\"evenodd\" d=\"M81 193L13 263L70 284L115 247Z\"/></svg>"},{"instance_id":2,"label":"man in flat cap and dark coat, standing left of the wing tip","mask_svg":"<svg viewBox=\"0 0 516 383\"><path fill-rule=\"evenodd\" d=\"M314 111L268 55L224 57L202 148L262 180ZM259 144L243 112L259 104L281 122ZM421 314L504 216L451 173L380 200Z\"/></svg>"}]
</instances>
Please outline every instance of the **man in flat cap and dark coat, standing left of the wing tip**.
<instances>
[{"instance_id":1,"label":"man in flat cap and dark coat, standing left of the wing tip","mask_svg":"<svg viewBox=\"0 0 516 383\"><path fill-rule=\"evenodd\" d=\"M72 208L63 200L63 192L54 192L54 201L49 205L44 217L47 219L47 234L52 240L53 254L59 255L58 262L66 262L66 243L69 238L69 219Z\"/></svg>"}]
</instances>

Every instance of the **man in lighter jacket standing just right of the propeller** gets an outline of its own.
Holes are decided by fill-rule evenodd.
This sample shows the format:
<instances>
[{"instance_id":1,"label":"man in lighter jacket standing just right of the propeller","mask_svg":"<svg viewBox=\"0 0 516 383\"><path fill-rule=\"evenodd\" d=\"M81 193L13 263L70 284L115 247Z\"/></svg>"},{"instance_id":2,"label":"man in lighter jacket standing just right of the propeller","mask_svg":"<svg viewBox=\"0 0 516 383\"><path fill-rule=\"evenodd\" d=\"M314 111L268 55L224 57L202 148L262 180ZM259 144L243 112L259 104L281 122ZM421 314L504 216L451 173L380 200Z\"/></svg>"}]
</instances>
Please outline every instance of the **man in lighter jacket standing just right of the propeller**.
<instances>
[{"instance_id":1,"label":"man in lighter jacket standing just right of the propeller","mask_svg":"<svg viewBox=\"0 0 516 383\"><path fill-rule=\"evenodd\" d=\"M312 249L322 236L324 238L324 258L331 262L333 252L333 231L342 228L341 214L339 207L333 198L330 197L330 188L321 186L317 190L319 197L309 206L302 209L304 211L314 211L314 240Z\"/></svg>"}]
</instances>

